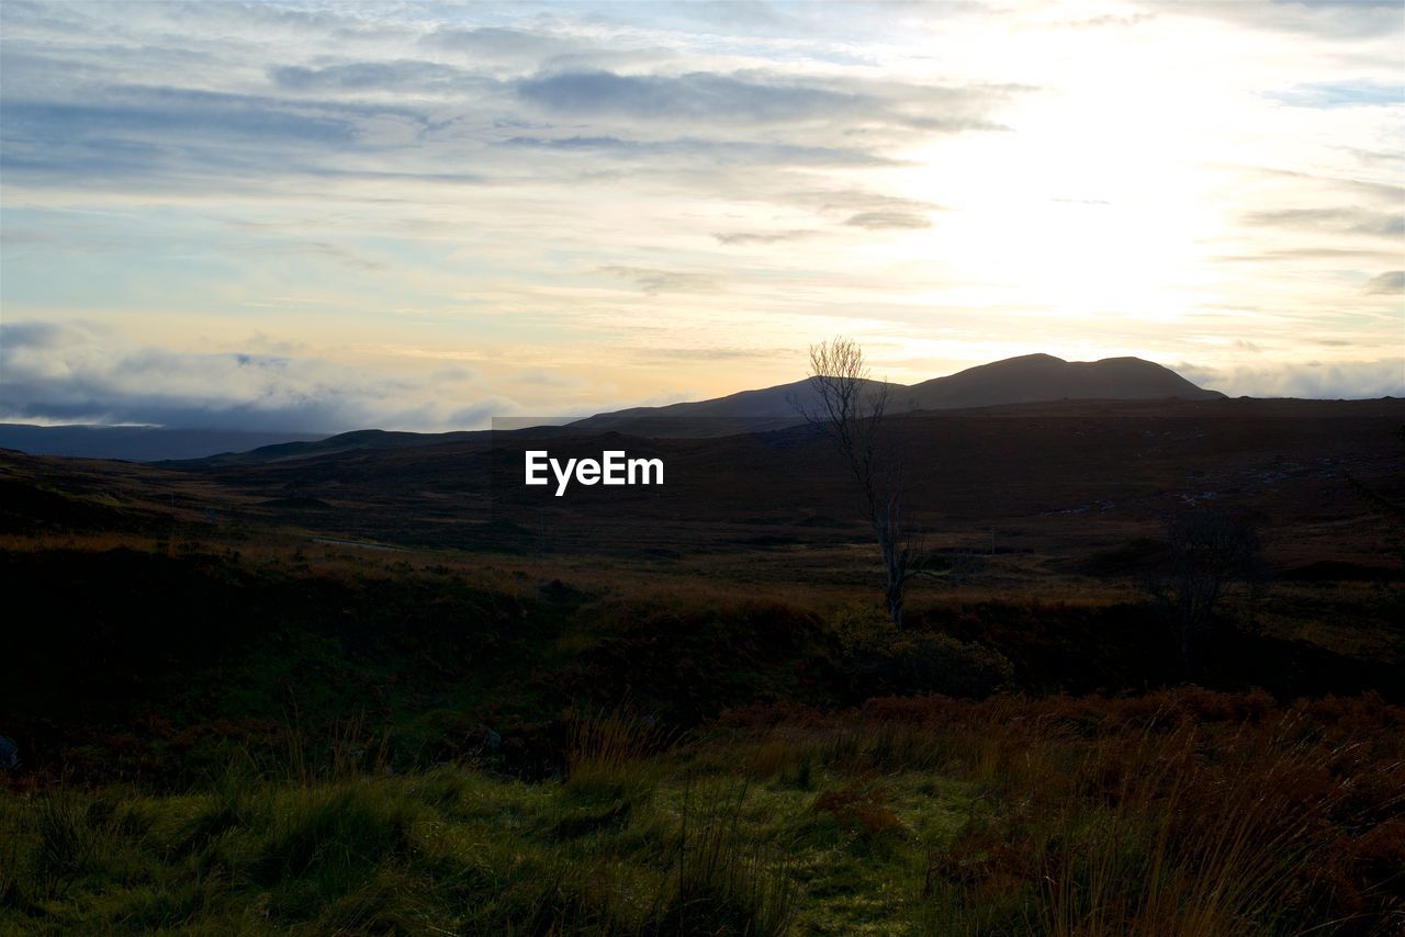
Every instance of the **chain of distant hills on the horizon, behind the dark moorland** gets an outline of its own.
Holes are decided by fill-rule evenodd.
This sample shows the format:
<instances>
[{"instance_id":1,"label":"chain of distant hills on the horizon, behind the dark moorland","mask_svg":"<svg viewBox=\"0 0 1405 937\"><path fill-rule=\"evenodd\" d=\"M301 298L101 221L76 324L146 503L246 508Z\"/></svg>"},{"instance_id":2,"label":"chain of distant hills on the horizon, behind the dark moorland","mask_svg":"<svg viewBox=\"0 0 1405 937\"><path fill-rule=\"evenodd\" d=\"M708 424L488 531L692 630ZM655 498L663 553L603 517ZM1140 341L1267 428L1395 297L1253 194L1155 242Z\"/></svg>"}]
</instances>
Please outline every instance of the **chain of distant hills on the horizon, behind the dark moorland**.
<instances>
[{"instance_id":1,"label":"chain of distant hills on the horizon, behind the dark moorland","mask_svg":"<svg viewBox=\"0 0 1405 937\"><path fill-rule=\"evenodd\" d=\"M1215 400L1224 395L1205 391L1170 368L1142 358L1064 361L1050 354L1028 354L982 364L943 378L913 385L870 381L887 386L892 410L951 410L1045 400ZM802 423L798 406L816 400L813 378L756 391L740 391L710 400L656 407L628 407L597 413L565 427L517 430L535 435L559 433L631 433L653 437L718 437L733 433L783 430ZM400 433L355 430L318 438L319 434L215 433L159 430L152 427L0 427L0 447L32 455L83 455L133 461L198 459L225 465L306 459L362 450L399 450L468 441L485 433ZM83 445L74 445L79 440ZM237 445L243 443L244 445ZM270 445L271 443L271 445ZM204 451L201 451L204 445Z\"/></svg>"}]
</instances>

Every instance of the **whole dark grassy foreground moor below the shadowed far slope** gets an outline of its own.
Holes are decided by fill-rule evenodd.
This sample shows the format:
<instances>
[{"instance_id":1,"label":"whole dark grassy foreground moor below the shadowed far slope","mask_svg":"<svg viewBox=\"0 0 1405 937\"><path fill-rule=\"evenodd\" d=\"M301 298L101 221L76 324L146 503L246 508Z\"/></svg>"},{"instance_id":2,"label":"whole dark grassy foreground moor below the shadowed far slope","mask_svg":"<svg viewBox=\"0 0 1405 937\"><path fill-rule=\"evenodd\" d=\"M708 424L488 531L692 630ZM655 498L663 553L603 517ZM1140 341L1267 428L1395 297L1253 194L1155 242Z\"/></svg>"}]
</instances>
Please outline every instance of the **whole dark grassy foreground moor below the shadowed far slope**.
<instances>
[{"instance_id":1,"label":"whole dark grassy foreground moor below the shadowed far slope","mask_svg":"<svg viewBox=\"0 0 1405 937\"><path fill-rule=\"evenodd\" d=\"M899 629L818 524L438 548L0 457L0 934L1399 933L1401 482L1308 482L1208 584L950 521Z\"/></svg>"}]
</instances>

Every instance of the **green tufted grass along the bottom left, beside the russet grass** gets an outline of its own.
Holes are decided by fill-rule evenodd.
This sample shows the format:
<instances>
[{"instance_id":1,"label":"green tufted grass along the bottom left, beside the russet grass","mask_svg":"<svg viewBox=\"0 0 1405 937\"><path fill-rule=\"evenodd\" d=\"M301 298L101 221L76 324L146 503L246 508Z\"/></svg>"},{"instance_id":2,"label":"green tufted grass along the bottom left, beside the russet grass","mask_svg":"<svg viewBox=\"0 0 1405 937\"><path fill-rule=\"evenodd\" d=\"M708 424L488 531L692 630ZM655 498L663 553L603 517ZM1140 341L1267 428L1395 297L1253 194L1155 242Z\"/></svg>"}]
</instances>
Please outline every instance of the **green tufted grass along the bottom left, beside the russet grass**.
<instances>
[{"instance_id":1,"label":"green tufted grass along the bottom left, beside the russet grass","mask_svg":"<svg viewBox=\"0 0 1405 937\"><path fill-rule=\"evenodd\" d=\"M724 785L725 787L725 785ZM763 815L804 798L621 794L464 768L184 797L4 802L4 933L783 933Z\"/></svg>"}]
</instances>

